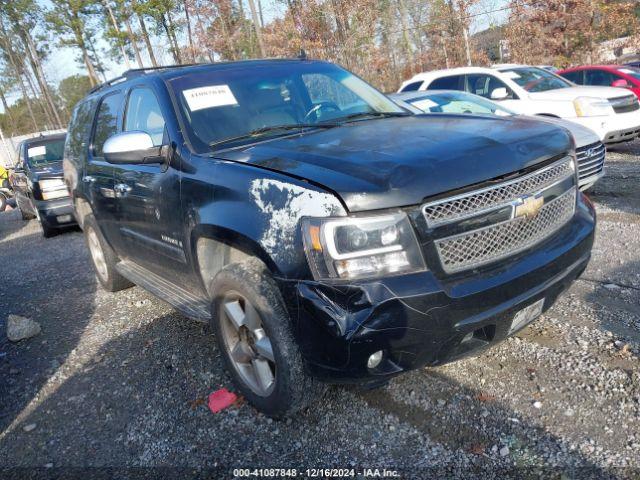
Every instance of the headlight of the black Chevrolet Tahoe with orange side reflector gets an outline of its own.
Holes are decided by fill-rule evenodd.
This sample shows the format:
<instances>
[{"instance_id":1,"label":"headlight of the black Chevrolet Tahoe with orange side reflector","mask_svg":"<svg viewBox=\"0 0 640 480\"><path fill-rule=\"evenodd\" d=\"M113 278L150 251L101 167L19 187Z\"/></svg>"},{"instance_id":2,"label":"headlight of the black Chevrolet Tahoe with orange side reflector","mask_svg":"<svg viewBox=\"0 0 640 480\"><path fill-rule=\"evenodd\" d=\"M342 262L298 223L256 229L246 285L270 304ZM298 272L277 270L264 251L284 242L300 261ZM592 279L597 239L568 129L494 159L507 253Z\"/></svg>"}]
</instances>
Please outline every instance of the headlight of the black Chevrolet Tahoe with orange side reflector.
<instances>
[{"instance_id":1,"label":"headlight of the black Chevrolet Tahoe with orange side reflector","mask_svg":"<svg viewBox=\"0 0 640 480\"><path fill-rule=\"evenodd\" d=\"M404 213L305 218L302 237L316 280L354 280L426 269Z\"/></svg>"}]
</instances>

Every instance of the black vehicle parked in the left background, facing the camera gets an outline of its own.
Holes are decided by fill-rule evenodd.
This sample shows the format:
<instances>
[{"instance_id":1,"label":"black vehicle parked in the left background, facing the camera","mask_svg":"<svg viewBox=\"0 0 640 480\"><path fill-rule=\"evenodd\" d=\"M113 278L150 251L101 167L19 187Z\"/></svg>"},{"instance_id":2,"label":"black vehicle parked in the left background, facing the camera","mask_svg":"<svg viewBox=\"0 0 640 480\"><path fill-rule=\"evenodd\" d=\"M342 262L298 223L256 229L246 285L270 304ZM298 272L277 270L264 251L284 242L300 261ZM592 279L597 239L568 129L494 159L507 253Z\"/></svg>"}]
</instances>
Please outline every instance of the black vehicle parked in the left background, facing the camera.
<instances>
[{"instance_id":1,"label":"black vehicle parked in the left background, facing the camera","mask_svg":"<svg viewBox=\"0 0 640 480\"><path fill-rule=\"evenodd\" d=\"M64 133L23 141L18 146L18 163L12 175L16 205L22 219L37 218L45 237L76 223L62 177L64 144Z\"/></svg>"}]
</instances>

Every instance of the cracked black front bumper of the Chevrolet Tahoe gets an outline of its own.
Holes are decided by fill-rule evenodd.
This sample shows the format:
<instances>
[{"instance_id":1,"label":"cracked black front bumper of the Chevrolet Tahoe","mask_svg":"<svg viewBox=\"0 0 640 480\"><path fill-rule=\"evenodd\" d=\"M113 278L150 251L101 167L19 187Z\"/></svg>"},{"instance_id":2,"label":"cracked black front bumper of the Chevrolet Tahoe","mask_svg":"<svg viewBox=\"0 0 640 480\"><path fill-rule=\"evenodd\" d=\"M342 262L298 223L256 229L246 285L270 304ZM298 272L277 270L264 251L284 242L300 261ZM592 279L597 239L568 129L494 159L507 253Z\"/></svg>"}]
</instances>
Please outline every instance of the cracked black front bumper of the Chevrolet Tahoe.
<instances>
[{"instance_id":1,"label":"cracked black front bumper of the Chevrolet Tahoe","mask_svg":"<svg viewBox=\"0 0 640 480\"><path fill-rule=\"evenodd\" d=\"M551 239L491 268L340 286L281 280L281 289L310 372L375 383L478 353L509 336L522 308L540 299L550 308L586 268L594 227L593 208L580 201L574 220ZM378 350L383 361L369 369Z\"/></svg>"}]
</instances>

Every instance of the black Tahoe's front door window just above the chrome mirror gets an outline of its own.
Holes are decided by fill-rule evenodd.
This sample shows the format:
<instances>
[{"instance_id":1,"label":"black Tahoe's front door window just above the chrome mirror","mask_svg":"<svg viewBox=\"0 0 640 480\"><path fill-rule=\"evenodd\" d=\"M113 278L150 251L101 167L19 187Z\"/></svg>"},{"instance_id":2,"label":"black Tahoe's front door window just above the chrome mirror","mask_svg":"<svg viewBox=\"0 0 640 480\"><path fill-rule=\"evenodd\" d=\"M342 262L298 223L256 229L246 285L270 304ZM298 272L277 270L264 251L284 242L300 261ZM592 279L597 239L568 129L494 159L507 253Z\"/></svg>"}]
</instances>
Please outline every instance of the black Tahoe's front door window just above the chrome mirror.
<instances>
[{"instance_id":1,"label":"black Tahoe's front door window just above the chrome mirror","mask_svg":"<svg viewBox=\"0 0 640 480\"><path fill-rule=\"evenodd\" d=\"M164 116L153 91L136 88L131 91L127 102L124 131L138 130L151 136L154 146L162 145L164 138Z\"/></svg>"}]
</instances>

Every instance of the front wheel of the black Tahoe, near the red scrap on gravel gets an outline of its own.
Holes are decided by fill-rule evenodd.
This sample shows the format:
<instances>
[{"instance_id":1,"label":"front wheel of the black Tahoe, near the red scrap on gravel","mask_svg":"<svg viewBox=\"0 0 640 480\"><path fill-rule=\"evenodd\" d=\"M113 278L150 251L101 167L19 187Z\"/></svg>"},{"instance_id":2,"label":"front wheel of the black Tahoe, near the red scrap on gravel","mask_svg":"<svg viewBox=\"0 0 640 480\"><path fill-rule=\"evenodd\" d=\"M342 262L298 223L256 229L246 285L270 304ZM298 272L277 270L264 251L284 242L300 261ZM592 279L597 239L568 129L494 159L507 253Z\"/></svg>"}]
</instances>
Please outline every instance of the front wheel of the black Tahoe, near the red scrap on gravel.
<instances>
[{"instance_id":1,"label":"front wheel of the black Tahoe, near the red scrap on gravel","mask_svg":"<svg viewBox=\"0 0 640 480\"><path fill-rule=\"evenodd\" d=\"M224 267L211 283L212 328L244 397L281 418L317 400L324 386L304 369L280 290L257 259Z\"/></svg>"}]
</instances>

